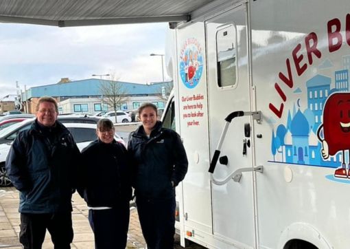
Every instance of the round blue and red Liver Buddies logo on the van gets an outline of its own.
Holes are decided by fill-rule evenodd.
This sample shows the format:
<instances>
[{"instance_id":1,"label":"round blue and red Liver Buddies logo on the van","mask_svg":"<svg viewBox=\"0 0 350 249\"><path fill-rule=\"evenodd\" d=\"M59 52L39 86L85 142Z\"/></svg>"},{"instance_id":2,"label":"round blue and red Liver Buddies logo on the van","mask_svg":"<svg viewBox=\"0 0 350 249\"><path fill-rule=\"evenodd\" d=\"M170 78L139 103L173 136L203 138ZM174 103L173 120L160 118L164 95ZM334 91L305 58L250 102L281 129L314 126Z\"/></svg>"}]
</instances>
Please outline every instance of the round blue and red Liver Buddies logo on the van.
<instances>
[{"instance_id":1,"label":"round blue and red Liver Buddies logo on the van","mask_svg":"<svg viewBox=\"0 0 350 249\"><path fill-rule=\"evenodd\" d=\"M180 51L180 78L187 88L198 85L203 72L203 56L197 39L190 38L183 43Z\"/></svg>"}]
</instances>

